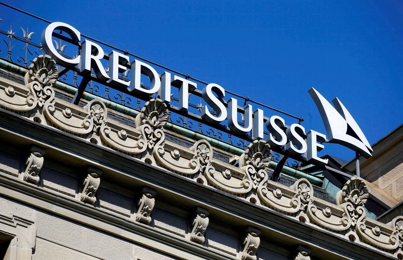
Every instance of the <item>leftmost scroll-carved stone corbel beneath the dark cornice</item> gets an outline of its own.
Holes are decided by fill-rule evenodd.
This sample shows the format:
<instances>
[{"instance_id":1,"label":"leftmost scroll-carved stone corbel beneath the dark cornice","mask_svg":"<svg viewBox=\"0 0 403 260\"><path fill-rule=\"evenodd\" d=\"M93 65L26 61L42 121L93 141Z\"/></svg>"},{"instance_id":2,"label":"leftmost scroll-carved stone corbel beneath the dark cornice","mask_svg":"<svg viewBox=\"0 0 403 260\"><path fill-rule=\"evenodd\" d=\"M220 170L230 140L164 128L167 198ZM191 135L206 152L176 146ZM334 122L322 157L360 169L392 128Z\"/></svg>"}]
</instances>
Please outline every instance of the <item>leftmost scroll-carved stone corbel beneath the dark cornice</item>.
<instances>
[{"instance_id":1,"label":"leftmost scroll-carved stone corbel beneath the dark cornice","mask_svg":"<svg viewBox=\"0 0 403 260\"><path fill-rule=\"evenodd\" d=\"M45 155L44 148L36 145L30 147L30 155L25 162L27 167L21 175L24 181L33 184L39 183L39 174L43 166L43 155Z\"/></svg>"}]
</instances>

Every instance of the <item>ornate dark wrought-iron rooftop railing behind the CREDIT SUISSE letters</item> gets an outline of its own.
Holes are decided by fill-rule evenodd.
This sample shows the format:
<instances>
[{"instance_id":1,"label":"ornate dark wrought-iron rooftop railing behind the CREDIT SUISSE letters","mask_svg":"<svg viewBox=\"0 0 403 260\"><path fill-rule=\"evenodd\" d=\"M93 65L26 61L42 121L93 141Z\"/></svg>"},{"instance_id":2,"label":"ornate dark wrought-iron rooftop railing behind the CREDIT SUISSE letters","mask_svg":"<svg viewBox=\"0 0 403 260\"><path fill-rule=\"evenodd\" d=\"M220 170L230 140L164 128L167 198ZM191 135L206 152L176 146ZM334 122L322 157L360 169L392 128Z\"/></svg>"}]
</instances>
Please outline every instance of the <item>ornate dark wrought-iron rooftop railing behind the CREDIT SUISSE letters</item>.
<instances>
[{"instance_id":1,"label":"ornate dark wrought-iron rooftop railing behind the CREDIT SUISSE letters","mask_svg":"<svg viewBox=\"0 0 403 260\"><path fill-rule=\"evenodd\" d=\"M33 17L35 19L38 19L40 21L43 21L45 23L51 23L48 20L45 20L43 18L40 18L38 16L35 16L33 14L30 14L28 12L25 12L23 10L17 9L15 7L12 7L10 5L4 4L0 2L3 6L6 6L8 8L11 8L17 12L20 12L22 14L28 15L30 17ZM5 21L0 24L0 28L3 27ZM43 29L46 27L43 26ZM24 27L25 28L25 27ZM7 30L7 31L6 31ZM28 67L30 62L37 57L40 54L44 54L41 44L40 43L35 43L32 38L34 35L34 32L30 32L29 28L26 27L26 29L23 29L21 27L20 32L14 32L12 27L10 26L10 29L0 29L0 34L4 36L4 39L2 39L2 42L5 44L6 49L2 50L2 46L0 45L0 58L6 59L10 62L16 63L18 65ZM20 36L19 36L20 35ZM65 42L69 42L69 39L65 36L63 36L61 33L56 34L54 33L53 36L59 38L58 41L55 41L55 47L57 51L60 54L63 54L68 48L69 45L63 44ZM168 68L166 66L160 65L156 62L147 60L145 58L142 58L136 54L130 53L128 51L124 51L122 49L116 48L112 45L109 45L107 43L104 43L102 41L96 40L92 37L86 36L86 35L81 35L84 38L87 38L91 41L94 41L100 45L103 45L103 47L110 48L119 52L124 53L125 55L132 56L134 58L140 59L146 63L152 64L154 66L158 66L161 69L164 69L166 71L169 71L173 74L177 74L180 76L183 76L187 79L191 79L197 83L200 84L208 84L205 81L201 81L197 78L194 78L190 76L189 74L186 73L181 73L179 71L176 71L174 69ZM39 37L38 37L39 38ZM39 39L38 39L39 42ZM16 48L17 46L24 46L23 48ZM6 51L7 50L7 51ZM77 55L77 53L76 53ZM105 54L105 59L108 60L109 57L107 54ZM106 71L108 71L107 65L105 64ZM81 82L85 83L85 91L90 92L94 94L95 96L105 98L107 100L110 100L112 102L116 102L121 104L122 106L135 109L135 110L141 110L143 107L144 103L148 101L150 96L135 96L133 94L125 93L124 91L119 91L114 88L112 88L110 85L108 85L105 82L102 82L96 78L95 75L91 74L89 78L84 78L81 73L79 73L77 68L64 68L59 66L59 80L70 84L72 86L75 86L76 88L79 88ZM124 71L123 73L120 73L120 78L121 79L126 79L129 77L129 69ZM175 88L173 88L175 89ZM200 88L201 89L201 88ZM199 90L194 90L189 92L189 109L187 111L181 111L178 109L176 103L178 103L178 93L176 90L176 93L172 94L171 96L171 106L169 108L170 110L170 117L169 121L173 124L179 125L181 127L190 129L192 131L198 132L200 134L210 136L212 138L218 139L222 142L225 142L229 145L234 145L237 147L240 147L242 149L245 149L250 141L252 141L252 138L250 135L239 135L233 133L228 125L226 125L226 121L223 122L223 124L209 124L206 121L204 121L201 118L201 108L203 107L203 102L201 99L201 92ZM157 97L157 94L152 95L152 97ZM303 121L302 117L297 117L295 115L286 113L284 111L275 109L273 107L264 105L260 102L250 100L248 97L242 97L238 94L235 94L230 91L226 91L226 98L231 98L235 97L239 104L243 103L242 105L246 106L246 104L252 104L254 109L260 108L262 109L266 114L277 112L280 113L286 117L289 117L290 120L297 120L298 123L301 123ZM238 107L238 112L243 115L243 108ZM212 111L214 114L214 112ZM241 117L241 121L239 122L240 125L243 125L242 122L243 118ZM264 120L267 120L265 118ZM268 132L264 132L265 135L268 134ZM275 161L280 161L281 158L283 157L282 154L287 154L286 151L284 151L281 148L275 149L274 153L274 160ZM286 161L286 165L292 166L292 167L298 167L300 165L299 161L302 161L303 158L302 156L295 156L295 157L290 157Z\"/></svg>"}]
</instances>

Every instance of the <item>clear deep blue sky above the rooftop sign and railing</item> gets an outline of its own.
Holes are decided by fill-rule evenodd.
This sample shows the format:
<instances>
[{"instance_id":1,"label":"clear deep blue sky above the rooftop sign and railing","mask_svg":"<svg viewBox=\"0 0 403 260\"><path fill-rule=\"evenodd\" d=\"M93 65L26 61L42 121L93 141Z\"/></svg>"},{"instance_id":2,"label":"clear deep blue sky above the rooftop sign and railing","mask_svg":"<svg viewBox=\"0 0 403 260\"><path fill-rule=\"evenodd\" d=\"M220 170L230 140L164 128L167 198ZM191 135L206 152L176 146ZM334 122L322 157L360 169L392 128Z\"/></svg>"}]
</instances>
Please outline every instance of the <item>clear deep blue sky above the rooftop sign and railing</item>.
<instances>
[{"instance_id":1,"label":"clear deep blue sky above the rooftop sign and railing","mask_svg":"<svg viewBox=\"0 0 403 260\"><path fill-rule=\"evenodd\" d=\"M325 133L312 86L329 101L338 97L371 144L403 122L400 1L6 3L302 116L307 130ZM46 26L5 7L0 18L20 36L20 26L34 28L36 42ZM354 156L333 144L324 152Z\"/></svg>"}]
</instances>

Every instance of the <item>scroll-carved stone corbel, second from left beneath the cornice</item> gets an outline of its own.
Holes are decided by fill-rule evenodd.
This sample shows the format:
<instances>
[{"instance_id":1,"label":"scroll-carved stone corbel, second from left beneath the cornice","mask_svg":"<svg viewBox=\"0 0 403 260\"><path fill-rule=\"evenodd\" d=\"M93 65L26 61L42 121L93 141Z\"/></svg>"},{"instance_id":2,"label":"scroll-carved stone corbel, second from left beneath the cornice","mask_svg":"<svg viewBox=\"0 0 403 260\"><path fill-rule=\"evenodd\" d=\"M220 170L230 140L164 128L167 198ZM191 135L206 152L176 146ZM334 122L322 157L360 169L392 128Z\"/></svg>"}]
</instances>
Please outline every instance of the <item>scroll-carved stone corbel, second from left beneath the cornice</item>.
<instances>
[{"instance_id":1,"label":"scroll-carved stone corbel, second from left beneath the cornice","mask_svg":"<svg viewBox=\"0 0 403 260\"><path fill-rule=\"evenodd\" d=\"M89 166L87 172L87 177L83 182L84 188L80 196L80 201L94 205L97 202L95 194L98 191L99 185L101 184L101 179L99 177L101 176L102 171Z\"/></svg>"}]
</instances>

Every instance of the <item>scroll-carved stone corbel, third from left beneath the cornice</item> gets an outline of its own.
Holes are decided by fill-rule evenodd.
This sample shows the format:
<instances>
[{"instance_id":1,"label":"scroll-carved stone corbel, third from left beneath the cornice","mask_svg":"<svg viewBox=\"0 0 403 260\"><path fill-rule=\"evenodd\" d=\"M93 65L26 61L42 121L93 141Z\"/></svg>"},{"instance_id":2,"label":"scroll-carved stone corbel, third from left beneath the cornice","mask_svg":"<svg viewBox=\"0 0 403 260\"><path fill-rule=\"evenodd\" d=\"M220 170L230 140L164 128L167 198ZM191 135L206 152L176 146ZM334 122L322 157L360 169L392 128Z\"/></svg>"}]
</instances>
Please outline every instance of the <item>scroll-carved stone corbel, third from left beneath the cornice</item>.
<instances>
[{"instance_id":1,"label":"scroll-carved stone corbel, third from left beneath the cornice","mask_svg":"<svg viewBox=\"0 0 403 260\"><path fill-rule=\"evenodd\" d=\"M142 189L139 202L137 206L139 207L136 213L136 221L144 223L147 225L151 224L151 213L155 206L155 195L157 192L151 188L144 187Z\"/></svg>"}]
</instances>

